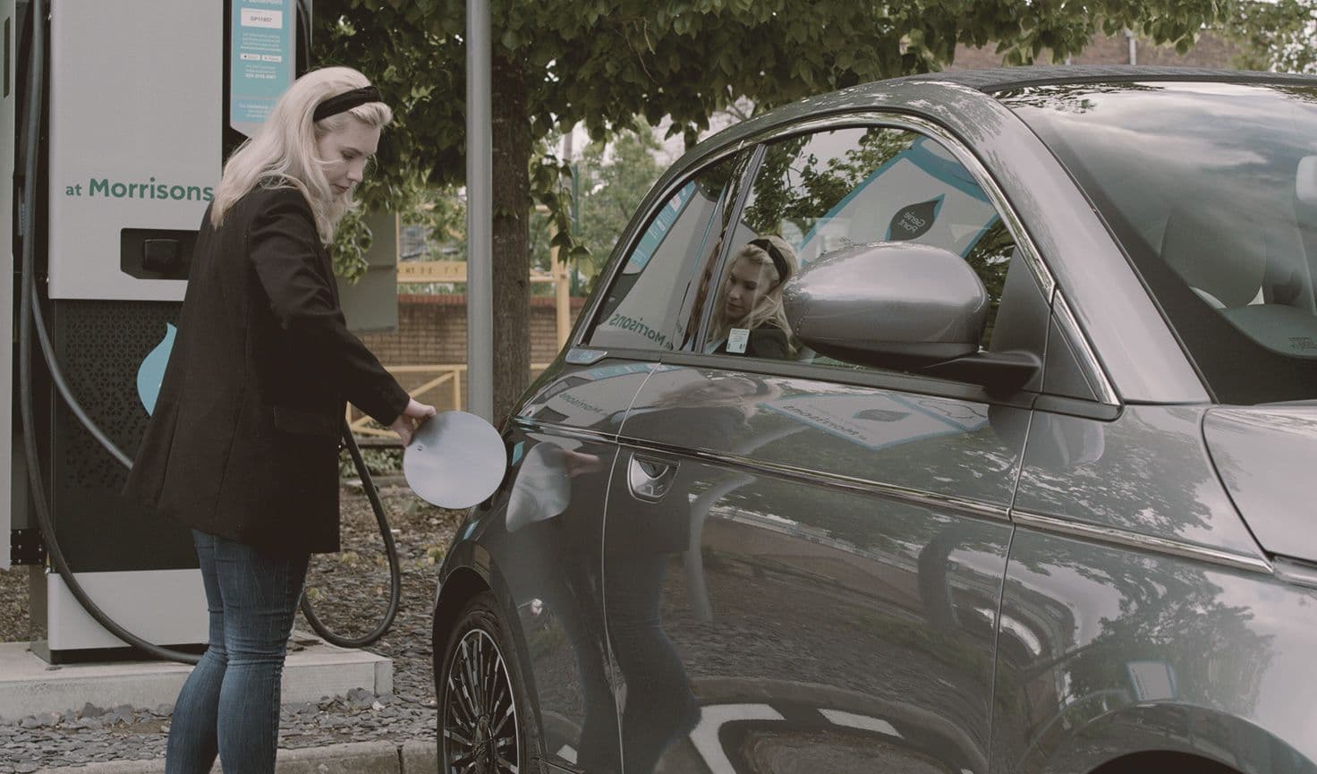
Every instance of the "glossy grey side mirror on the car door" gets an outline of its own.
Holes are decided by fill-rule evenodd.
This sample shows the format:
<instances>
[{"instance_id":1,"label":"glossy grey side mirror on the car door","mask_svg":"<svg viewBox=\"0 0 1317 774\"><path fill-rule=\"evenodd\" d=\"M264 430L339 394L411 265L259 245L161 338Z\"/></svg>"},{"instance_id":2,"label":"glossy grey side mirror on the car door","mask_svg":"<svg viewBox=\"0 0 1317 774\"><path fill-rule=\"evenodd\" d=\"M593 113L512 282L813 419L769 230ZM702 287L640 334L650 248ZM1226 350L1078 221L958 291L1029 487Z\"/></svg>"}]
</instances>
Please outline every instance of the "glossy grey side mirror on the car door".
<instances>
[{"instance_id":1,"label":"glossy grey side mirror on the car door","mask_svg":"<svg viewBox=\"0 0 1317 774\"><path fill-rule=\"evenodd\" d=\"M1040 367L1030 353L979 351L989 299L964 258L914 242L878 242L809 263L782 292L792 332L848 363L980 384L1023 386Z\"/></svg>"}]
</instances>

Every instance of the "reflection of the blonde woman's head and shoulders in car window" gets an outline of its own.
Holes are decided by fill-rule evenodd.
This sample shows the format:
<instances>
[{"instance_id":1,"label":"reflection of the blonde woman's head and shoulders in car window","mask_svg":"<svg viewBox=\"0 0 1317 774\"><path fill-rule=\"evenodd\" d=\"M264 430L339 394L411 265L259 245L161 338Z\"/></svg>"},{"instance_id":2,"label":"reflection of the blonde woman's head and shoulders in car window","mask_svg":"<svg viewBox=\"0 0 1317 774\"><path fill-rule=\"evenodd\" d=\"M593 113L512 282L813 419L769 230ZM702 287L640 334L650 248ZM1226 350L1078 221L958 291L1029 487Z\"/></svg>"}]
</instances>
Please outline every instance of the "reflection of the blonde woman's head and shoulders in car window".
<instances>
[{"instance_id":1,"label":"reflection of the blonde woman's head and shoulders in car window","mask_svg":"<svg viewBox=\"0 0 1317 774\"><path fill-rule=\"evenodd\" d=\"M718 296L705 351L794 357L782 286L798 269L795 250L781 237L759 237L738 250Z\"/></svg>"}]
</instances>

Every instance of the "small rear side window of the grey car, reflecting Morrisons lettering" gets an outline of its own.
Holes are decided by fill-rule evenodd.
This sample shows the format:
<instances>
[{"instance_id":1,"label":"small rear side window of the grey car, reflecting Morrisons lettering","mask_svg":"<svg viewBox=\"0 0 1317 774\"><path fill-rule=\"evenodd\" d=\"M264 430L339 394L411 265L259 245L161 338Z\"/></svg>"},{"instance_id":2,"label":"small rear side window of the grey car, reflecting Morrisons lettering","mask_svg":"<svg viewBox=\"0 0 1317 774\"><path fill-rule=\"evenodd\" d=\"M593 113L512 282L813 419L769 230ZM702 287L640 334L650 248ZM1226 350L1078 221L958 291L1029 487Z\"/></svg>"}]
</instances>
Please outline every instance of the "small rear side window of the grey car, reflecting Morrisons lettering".
<instances>
[{"instance_id":1,"label":"small rear side window of the grey car, reflecting Morrisons lettering","mask_svg":"<svg viewBox=\"0 0 1317 774\"><path fill-rule=\"evenodd\" d=\"M706 167L653 215L605 296L590 346L670 350L694 334L691 284L718 250L719 213L730 211L724 199L740 163L731 157Z\"/></svg>"}]
</instances>

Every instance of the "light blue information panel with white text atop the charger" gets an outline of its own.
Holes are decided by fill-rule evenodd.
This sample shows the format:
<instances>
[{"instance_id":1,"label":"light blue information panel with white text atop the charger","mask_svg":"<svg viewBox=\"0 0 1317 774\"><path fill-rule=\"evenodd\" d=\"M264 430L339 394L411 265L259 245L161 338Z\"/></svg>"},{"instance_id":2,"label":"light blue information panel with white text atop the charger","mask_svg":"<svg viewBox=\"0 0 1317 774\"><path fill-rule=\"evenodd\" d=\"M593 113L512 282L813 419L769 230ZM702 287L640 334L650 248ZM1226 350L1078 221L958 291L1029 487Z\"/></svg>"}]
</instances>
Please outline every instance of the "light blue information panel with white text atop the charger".
<instances>
[{"instance_id":1,"label":"light blue information panel with white text atop the charger","mask_svg":"<svg viewBox=\"0 0 1317 774\"><path fill-rule=\"evenodd\" d=\"M234 0L229 124L250 136L292 83L294 0Z\"/></svg>"}]
</instances>

